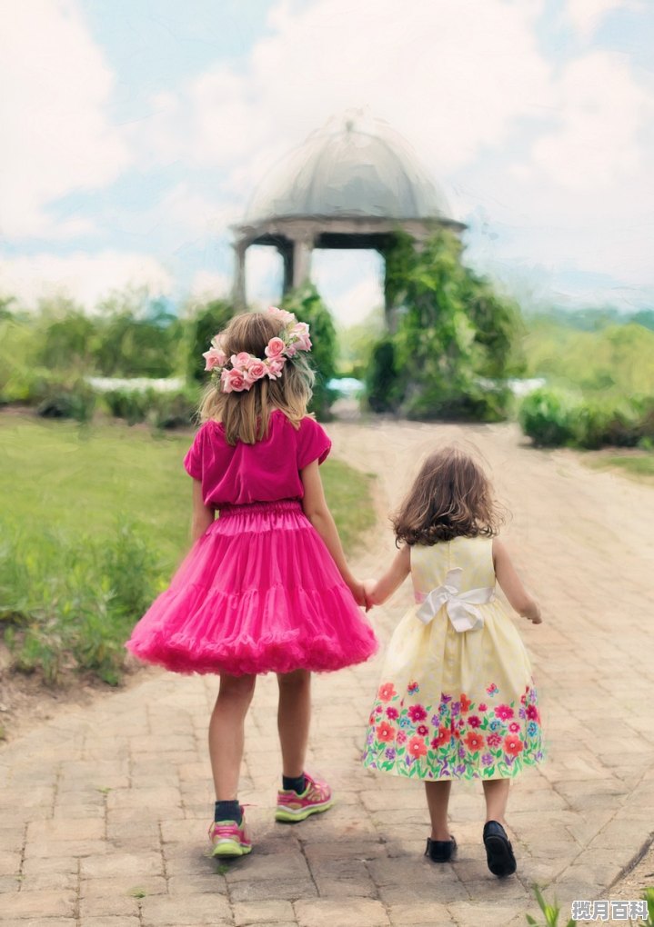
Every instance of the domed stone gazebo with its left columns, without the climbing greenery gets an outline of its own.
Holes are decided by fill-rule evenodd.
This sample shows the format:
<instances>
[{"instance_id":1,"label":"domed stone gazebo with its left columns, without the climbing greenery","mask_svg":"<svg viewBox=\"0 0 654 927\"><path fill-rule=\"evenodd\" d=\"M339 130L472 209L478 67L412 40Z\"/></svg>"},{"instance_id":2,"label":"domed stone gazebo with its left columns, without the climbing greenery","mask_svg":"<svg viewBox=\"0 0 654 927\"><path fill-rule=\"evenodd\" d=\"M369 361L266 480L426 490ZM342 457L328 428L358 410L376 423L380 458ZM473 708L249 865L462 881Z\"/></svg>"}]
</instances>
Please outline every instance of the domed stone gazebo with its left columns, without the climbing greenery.
<instances>
[{"instance_id":1,"label":"domed stone gazebo with its left columns, without the climbing greenery","mask_svg":"<svg viewBox=\"0 0 654 927\"><path fill-rule=\"evenodd\" d=\"M387 123L360 114L332 119L265 178L236 226L234 301L246 305L250 245L277 248L286 293L310 279L314 248L374 248L384 255L398 228L417 243L438 226L462 232L466 226L448 212L441 191Z\"/></svg>"}]
</instances>

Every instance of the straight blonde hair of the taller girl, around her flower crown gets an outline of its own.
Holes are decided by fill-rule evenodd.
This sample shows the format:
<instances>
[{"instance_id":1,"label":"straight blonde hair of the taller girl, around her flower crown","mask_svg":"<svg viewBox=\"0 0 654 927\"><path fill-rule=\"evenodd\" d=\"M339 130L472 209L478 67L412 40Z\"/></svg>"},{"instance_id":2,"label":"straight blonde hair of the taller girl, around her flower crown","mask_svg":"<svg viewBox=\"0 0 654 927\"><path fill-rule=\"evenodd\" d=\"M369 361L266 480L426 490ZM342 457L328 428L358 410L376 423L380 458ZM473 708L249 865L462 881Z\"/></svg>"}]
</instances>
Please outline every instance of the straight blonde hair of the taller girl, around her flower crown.
<instances>
[{"instance_id":1,"label":"straight blonde hair of the taller girl, around her flower crown","mask_svg":"<svg viewBox=\"0 0 654 927\"><path fill-rule=\"evenodd\" d=\"M221 333L221 348L227 356L246 351L263 360L271 338L279 335L282 324L264 312L243 312L235 315ZM249 390L224 393L220 381L210 383L199 403L199 420L222 422L227 444L254 444L268 434L270 413L280 409L292 425L300 427L301 419L313 395L314 371L303 354L298 352L284 364L277 380L263 377Z\"/></svg>"}]
</instances>

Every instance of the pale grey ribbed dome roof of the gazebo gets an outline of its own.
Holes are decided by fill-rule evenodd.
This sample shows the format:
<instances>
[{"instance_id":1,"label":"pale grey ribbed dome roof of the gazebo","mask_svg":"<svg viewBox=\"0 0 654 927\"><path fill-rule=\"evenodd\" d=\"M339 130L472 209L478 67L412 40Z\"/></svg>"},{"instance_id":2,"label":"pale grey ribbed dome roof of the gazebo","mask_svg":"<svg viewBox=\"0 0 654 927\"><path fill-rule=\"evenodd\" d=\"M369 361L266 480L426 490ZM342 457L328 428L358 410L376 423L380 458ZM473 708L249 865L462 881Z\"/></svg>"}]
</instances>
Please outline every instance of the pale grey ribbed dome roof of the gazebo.
<instances>
[{"instance_id":1,"label":"pale grey ribbed dome roof of the gazebo","mask_svg":"<svg viewBox=\"0 0 654 927\"><path fill-rule=\"evenodd\" d=\"M245 222L293 216L446 220L441 191L398 133L346 114L312 133L264 179Z\"/></svg>"}]
</instances>

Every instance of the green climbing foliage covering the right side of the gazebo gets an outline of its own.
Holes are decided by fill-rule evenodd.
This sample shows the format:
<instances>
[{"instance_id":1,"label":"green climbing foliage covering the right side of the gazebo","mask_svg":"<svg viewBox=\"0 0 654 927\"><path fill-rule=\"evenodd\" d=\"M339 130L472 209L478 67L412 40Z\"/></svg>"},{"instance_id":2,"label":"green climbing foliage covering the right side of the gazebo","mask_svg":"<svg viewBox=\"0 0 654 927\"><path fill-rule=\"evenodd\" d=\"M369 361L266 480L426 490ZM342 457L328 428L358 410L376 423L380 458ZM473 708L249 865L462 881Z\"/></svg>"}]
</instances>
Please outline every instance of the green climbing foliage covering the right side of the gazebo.
<instances>
[{"instance_id":1,"label":"green climbing foliage covering the right side of the gazebo","mask_svg":"<svg viewBox=\"0 0 654 927\"><path fill-rule=\"evenodd\" d=\"M489 388L483 378L517 372L519 311L464 266L462 250L444 229L419 249L397 234L386 265L396 331L373 353L378 372L368 380L378 409L418 418L502 417L507 390Z\"/></svg>"}]
</instances>

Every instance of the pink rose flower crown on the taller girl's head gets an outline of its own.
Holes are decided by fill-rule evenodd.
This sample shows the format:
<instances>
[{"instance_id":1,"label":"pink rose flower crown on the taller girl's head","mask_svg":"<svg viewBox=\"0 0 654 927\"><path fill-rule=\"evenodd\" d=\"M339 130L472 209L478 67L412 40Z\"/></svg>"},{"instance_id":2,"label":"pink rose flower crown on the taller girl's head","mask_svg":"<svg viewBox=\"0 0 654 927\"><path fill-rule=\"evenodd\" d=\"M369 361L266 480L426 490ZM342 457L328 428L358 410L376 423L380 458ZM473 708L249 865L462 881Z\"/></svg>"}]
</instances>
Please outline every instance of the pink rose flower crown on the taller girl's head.
<instances>
[{"instance_id":1,"label":"pink rose flower crown on the taller girl's head","mask_svg":"<svg viewBox=\"0 0 654 927\"><path fill-rule=\"evenodd\" d=\"M240 351L227 357L221 346L220 336L212 338L212 347L203 352L204 369L212 371L212 378L224 393L240 393L250 389L257 380L267 376L277 380L282 375L284 364L299 350L311 350L309 326L298 322L292 312L270 306L268 312L282 324L279 335L272 337L265 349L265 357L255 357L247 351ZM231 364L228 367L227 364Z\"/></svg>"}]
</instances>

